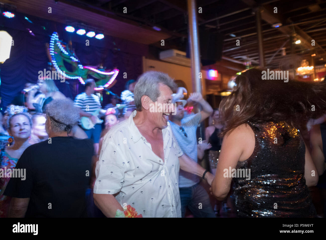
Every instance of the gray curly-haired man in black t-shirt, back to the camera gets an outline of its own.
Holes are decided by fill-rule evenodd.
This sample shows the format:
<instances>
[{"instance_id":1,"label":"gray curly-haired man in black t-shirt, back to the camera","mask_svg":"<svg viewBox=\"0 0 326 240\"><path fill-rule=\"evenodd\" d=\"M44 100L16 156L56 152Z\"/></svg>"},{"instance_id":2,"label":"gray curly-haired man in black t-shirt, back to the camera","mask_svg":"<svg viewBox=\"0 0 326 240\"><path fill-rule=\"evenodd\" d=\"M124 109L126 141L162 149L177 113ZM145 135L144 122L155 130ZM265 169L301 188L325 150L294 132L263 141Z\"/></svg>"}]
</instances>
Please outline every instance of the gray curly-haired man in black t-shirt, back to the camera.
<instances>
[{"instance_id":1,"label":"gray curly-haired man in black t-shirt, back to the camera","mask_svg":"<svg viewBox=\"0 0 326 240\"><path fill-rule=\"evenodd\" d=\"M26 148L16 165L26 169L26 179L12 178L7 185L8 216L85 217L93 141L68 136L79 120L68 98L51 101L46 118L49 138Z\"/></svg>"}]
</instances>

